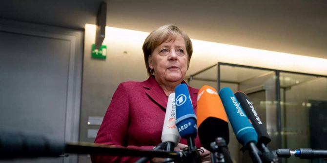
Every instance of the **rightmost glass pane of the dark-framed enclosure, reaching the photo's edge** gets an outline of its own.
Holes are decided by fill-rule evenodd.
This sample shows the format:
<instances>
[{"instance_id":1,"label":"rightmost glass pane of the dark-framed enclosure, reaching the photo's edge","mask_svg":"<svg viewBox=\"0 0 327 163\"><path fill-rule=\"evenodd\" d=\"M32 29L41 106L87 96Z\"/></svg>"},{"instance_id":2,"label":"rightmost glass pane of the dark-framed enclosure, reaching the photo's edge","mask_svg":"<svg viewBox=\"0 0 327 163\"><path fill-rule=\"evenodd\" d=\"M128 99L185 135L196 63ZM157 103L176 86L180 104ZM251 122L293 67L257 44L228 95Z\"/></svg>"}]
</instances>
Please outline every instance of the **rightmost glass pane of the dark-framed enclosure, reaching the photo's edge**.
<instances>
[{"instance_id":1,"label":"rightmost glass pane of the dark-framed enclosure, reaching the photo's edge","mask_svg":"<svg viewBox=\"0 0 327 163\"><path fill-rule=\"evenodd\" d=\"M283 148L327 149L327 78L280 73ZM310 163L289 158L287 163ZM313 160L312 163L327 163Z\"/></svg>"}]
</instances>

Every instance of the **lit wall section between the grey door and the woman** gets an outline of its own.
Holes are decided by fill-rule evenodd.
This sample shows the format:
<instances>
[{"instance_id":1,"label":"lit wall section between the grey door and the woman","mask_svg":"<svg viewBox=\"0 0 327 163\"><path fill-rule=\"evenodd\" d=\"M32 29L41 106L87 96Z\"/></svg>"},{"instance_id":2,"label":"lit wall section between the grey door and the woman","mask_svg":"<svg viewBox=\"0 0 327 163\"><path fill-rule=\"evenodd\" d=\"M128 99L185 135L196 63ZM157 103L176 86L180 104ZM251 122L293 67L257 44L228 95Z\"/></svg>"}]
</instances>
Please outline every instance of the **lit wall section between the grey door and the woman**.
<instances>
[{"instance_id":1,"label":"lit wall section between the grey door and the woman","mask_svg":"<svg viewBox=\"0 0 327 163\"><path fill-rule=\"evenodd\" d=\"M94 142L94 138L87 137L88 129L98 129L100 126L87 125L88 117L104 116L113 93L121 82L147 79L142 52L147 33L109 29L110 32L107 32L102 43L107 45L107 58L99 60L91 58L91 46L95 42L95 26L85 26L80 123L82 142ZM89 163L90 158L81 155L79 162Z\"/></svg>"}]
</instances>

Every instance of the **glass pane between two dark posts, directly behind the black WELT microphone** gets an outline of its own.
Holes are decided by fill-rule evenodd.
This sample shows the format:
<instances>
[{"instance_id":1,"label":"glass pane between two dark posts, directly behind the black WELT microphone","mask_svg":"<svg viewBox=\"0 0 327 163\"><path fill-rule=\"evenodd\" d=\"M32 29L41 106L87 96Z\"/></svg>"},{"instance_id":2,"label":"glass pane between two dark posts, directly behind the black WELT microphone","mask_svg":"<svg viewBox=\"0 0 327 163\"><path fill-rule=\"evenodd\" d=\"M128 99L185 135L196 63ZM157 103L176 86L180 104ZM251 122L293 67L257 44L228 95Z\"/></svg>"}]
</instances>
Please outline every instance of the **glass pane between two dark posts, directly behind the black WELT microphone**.
<instances>
[{"instance_id":1,"label":"glass pane between two dark posts, directly behind the black WELT microphone","mask_svg":"<svg viewBox=\"0 0 327 163\"><path fill-rule=\"evenodd\" d=\"M245 92L251 100L260 119L266 124L271 142L270 149L277 148L277 126L276 126L276 77L275 72L254 68L221 65L221 88L229 87L233 91ZM230 127L230 131L232 129ZM277 133L277 134L276 134ZM234 133L230 133L228 145L230 153L237 163L250 163L252 159L248 153L240 152L240 145Z\"/></svg>"}]
</instances>

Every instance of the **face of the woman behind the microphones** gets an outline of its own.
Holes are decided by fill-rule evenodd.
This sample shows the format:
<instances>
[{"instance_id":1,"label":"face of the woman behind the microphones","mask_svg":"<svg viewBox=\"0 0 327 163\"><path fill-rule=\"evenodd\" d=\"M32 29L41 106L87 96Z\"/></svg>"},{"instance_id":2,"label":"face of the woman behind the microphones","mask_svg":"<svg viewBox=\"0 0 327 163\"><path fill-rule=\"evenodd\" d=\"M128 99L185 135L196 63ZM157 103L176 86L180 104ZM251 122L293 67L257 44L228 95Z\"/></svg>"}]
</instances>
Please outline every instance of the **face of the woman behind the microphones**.
<instances>
[{"instance_id":1,"label":"face of the woman behind the microphones","mask_svg":"<svg viewBox=\"0 0 327 163\"><path fill-rule=\"evenodd\" d=\"M161 82L177 82L185 77L187 52L183 37L164 42L149 56L149 67L154 69L156 79Z\"/></svg>"}]
</instances>

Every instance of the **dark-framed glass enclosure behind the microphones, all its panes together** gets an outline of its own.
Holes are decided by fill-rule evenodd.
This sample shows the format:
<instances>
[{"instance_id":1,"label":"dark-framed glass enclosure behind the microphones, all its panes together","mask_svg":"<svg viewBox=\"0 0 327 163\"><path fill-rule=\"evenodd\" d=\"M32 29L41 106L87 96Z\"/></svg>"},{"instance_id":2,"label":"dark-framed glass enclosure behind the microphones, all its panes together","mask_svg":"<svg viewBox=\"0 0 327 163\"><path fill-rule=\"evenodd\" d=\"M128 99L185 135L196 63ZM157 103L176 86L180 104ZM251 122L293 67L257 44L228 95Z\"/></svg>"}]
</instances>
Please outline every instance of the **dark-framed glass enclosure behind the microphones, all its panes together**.
<instances>
[{"instance_id":1,"label":"dark-framed glass enclosure behind the microphones, all its panes together","mask_svg":"<svg viewBox=\"0 0 327 163\"><path fill-rule=\"evenodd\" d=\"M217 89L217 65L193 76L192 87L209 85ZM220 86L245 92L266 124L271 150L280 147L327 149L327 77L280 72L281 119L277 120L277 92L275 71L220 65ZM218 91L218 90L217 90ZM278 130L281 122L282 132ZM236 163L252 162L230 128L229 151ZM281 139L279 139L281 138ZM281 146L280 146L281 145ZM304 160L295 157L282 163L327 163L327 160Z\"/></svg>"}]
</instances>

